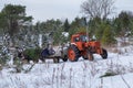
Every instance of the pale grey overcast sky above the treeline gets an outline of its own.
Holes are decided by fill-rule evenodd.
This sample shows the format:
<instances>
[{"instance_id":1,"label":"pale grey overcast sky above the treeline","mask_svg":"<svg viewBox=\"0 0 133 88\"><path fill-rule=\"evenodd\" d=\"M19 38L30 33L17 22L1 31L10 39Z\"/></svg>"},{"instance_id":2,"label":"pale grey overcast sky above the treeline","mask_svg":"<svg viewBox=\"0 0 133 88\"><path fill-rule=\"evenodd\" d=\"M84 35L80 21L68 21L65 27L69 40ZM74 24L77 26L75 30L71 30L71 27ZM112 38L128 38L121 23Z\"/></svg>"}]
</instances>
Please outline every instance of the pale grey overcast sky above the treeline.
<instances>
[{"instance_id":1,"label":"pale grey overcast sky above the treeline","mask_svg":"<svg viewBox=\"0 0 133 88\"><path fill-rule=\"evenodd\" d=\"M48 19L68 18L72 21L75 16L82 16L80 6L85 0L1 0L0 11L4 4L25 6L27 15L32 15L34 22L45 21ZM133 0L115 0L115 12L122 10L133 11ZM116 15L116 13L114 15Z\"/></svg>"}]
</instances>

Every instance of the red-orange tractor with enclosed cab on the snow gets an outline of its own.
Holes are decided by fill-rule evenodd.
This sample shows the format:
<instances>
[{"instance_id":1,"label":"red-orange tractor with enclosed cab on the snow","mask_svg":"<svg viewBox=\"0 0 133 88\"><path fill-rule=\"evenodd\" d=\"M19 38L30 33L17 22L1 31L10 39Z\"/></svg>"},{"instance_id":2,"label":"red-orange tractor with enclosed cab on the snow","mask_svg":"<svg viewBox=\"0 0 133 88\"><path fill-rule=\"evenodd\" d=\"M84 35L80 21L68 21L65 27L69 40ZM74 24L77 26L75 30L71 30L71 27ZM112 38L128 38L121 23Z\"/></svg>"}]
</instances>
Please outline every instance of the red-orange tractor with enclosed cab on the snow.
<instances>
[{"instance_id":1,"label":"red-orange tractor with enclosed cab on the snow","mask_svg":"<svg viewBox=\"0 0 133 88\"><path fill-rule=\"evenodd\" d=\"M76 62L79 57L93 61L93 54L100 54L103 59L108 58L106 50L101 47L100 42L89 40L86 33L76 33L71 37L71 44L68 47L66 58Z\"/></svg>"}]
</instances>

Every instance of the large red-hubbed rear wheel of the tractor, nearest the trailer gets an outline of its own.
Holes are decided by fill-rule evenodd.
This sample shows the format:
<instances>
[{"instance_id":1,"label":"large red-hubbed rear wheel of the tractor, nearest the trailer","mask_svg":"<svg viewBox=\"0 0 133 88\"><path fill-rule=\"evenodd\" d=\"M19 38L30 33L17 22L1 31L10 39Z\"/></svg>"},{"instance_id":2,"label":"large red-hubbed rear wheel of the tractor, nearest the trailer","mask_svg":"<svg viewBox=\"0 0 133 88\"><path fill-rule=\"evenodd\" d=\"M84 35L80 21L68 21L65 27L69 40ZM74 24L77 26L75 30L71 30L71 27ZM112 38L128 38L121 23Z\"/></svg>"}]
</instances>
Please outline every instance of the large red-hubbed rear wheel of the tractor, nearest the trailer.
<instances>
[{"instance_id":1,"label":"large red-hubbed rear wheel of the tractor, nearest the trailer","mask_svg":"<svg viewBox=\"0 0 133 88\"><path fill-rule=\"evenodd\" d=\"M68 58L71 62L78 62L79 57L80 57L80 51L78 50L75 45L71 45L68 48Z\"/></svg>"}]
</instances>

